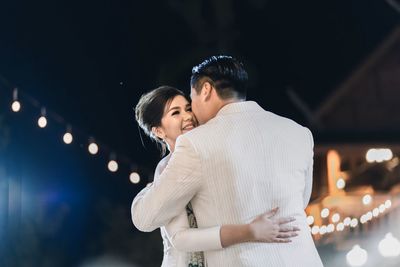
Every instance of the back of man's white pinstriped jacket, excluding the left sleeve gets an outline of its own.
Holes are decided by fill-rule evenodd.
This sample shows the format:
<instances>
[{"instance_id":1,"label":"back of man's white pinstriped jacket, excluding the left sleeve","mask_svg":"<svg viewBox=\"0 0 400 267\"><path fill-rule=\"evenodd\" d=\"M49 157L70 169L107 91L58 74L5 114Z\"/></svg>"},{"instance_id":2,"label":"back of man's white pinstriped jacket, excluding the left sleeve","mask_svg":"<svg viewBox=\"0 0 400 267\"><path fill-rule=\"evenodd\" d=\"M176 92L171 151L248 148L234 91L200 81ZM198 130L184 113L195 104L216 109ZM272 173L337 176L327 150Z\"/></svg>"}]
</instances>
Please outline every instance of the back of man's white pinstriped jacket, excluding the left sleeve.
<instances>
[{"instance_id":1,"label":"back of man's white pinstriped jacket, excluding the left sleeve","mask_svg":"<svg viewBox=\"0 0 400 267\"><path fill-rule=\"evenodd\" d=\"M322 266L305 222L313 155L306 128L255 102L239 102L183 138L201 162L202 186L191 201L199 227L247 223L279 207L277 216L294 216L301 228L289 244L206 252L208 266Z\"/></svg>"}]
</instances>

